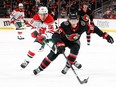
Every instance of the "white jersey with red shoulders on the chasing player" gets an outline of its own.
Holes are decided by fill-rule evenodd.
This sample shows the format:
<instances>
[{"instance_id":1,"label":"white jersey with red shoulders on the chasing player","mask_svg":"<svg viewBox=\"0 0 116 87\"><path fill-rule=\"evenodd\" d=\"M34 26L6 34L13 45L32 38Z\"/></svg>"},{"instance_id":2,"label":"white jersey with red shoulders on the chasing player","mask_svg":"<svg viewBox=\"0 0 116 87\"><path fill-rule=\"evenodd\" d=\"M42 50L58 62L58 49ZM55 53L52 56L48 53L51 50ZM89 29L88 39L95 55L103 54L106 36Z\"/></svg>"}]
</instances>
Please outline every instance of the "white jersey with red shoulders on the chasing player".
<instances>
[{"instance_id":1,"label":"white jersey with red shoulders on the chasing player","mask_svg":"<svg viewBox=\"0 0 116 87\"><path fill-rule=\"evenodd\" d=\"M41 21L39 14L35 14L30 24L36 27L37 31L45 34L47 38L51 38L51 34L55 31L54 18L50 14L44 21Z\"/></svg>"}]
</instances>

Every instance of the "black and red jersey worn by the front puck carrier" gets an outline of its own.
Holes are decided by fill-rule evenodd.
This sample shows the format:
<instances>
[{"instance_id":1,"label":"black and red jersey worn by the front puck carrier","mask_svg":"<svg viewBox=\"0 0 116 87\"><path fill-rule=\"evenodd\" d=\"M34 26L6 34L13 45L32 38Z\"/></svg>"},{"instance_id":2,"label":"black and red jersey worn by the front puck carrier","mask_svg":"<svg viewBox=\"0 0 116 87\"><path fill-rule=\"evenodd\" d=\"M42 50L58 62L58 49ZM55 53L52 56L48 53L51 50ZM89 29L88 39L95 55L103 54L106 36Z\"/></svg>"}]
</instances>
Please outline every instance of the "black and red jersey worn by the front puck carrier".
<instances>
[{"instance_id":1,"label":"black and red jersey worn by the front puck carrier","mask_svg":"<svg viewBox=\"0 0 116 87\"><path fill-rule=\"evenodd\" d=\"M66 43L69 44L78 41L81 35L87 31L88 31L88 26L86 24L81 25L80 23L78 23L76 28L72 28L70 22L65 21L61 23L58 31L56 31L53 34L52 38L55 44L57 42L64 42L65 44ZM95 26L94 33L96 33L100 37L104 36L104 33L97 26ZM77 35L77 39L71 40L74 34Z\"/></svg>"}]
</instances>

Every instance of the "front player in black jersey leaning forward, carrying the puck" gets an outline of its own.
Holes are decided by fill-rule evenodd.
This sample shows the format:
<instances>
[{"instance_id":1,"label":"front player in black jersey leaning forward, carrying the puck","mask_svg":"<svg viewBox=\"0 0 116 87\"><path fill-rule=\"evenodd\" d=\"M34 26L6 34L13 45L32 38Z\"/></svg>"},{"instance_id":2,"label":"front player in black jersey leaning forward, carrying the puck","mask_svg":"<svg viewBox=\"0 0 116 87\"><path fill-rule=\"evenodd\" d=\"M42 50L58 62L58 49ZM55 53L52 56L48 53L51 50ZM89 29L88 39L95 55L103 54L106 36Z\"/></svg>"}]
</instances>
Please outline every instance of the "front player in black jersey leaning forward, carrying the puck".
<instances>
[{"instance_id":1,"label":"front player in black jersey leaning forward, carrying the puck","mask_svg":"<svg viewBox=\"0 0 116 87\"><path fill-rule=\"evenodd\" d=\"M52 49L55 50L56 48L57 53L54 53L53 50L51 50L50 53L43 59L40 66L33 70L33 73L35 75L47 68L59 54L63 54L66 47L70 49L70 53L67 56L68 62L62 70L62 73L66 74L70 69L70 64L73 65L75 63L80 49L79 39L84 32L88 31L88 26L86 24L81 25L78 21L79 20L77 14L71 13L69 14L68 20L61 23L58 31L56 31L52 36L54 42ZM109 34L102 32L96 26L94 33L98 34L100 37L103 37L111 44L114 42L113 38Z\"/></svg>"}]
</instances>

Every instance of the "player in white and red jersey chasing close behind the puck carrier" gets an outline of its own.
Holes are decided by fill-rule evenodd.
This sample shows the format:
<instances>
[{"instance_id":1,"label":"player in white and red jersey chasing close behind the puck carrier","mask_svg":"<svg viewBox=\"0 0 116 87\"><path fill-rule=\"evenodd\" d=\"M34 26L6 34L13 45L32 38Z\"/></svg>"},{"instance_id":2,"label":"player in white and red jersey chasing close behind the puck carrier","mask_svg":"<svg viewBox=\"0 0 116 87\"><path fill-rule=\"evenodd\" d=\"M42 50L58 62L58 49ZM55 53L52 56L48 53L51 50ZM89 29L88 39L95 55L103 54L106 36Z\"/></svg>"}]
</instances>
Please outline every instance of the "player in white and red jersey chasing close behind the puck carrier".
<instances>
[{"instance_id":1,"label":"player in white and red jersey chasing close behind the puck carrier","mask_svg":"<svg viewBox=\"0 0 116 87\"><path fill-rule=\"evenodd\" d=\"M32 44L32 48L28 51L24 62L21 64L22 68L29 64L38 50L44 48L44 42L52 41L51 36L55 31L54 19L48 14L47 7L44 6L40 7L38 13L33 16L31 25L36 27L36 30L31 33L35 41Z\"/></svg>"}]
</instances>

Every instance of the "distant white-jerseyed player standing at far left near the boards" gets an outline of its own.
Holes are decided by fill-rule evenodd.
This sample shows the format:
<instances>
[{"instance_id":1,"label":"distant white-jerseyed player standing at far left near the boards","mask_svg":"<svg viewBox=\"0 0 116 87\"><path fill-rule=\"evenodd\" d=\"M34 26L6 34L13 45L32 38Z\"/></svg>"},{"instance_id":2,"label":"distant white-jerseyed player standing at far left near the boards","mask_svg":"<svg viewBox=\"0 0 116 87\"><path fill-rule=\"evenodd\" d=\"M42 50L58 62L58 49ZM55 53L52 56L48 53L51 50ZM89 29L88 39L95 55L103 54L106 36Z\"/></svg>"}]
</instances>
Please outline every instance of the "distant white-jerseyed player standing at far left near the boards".
<instances>
[{"instance_id":1,"label":"distant white-jerseyed player standing at far left near the boards","mask_svg":"<svg viewBox=\"0 0 116 87\"><path fill-rule=\"evenodd\" d=\"M24 39L22 36L24 28L25 28L25 20L24 20L24 8L23 4L19 3L18 8L14 9L10 15L11 26L17 30L17 38L19 40Z\"/></svg>"}]
</instances>

